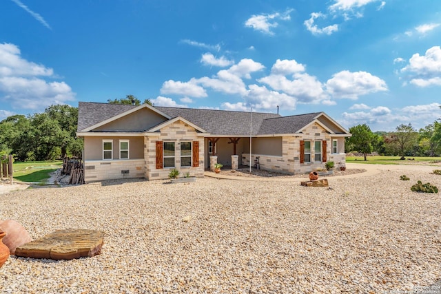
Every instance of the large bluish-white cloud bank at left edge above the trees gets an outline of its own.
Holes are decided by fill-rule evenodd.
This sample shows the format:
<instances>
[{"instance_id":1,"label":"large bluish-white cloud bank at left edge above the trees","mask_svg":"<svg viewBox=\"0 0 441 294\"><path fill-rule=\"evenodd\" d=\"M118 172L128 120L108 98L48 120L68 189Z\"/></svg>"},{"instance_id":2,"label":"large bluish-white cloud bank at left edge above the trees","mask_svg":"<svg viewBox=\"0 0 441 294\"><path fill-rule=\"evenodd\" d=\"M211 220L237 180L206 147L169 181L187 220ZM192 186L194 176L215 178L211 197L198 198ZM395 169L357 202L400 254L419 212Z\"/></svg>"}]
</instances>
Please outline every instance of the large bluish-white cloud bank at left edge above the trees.
<instances>
[{"instance_id":1,"label":"large bluish-white cloud bank at left edge above the trees","mask_svg":"<svg viewBox=\"0 0 441 294\"><path fill-rule=\"evenodd\" d=\"M74 101L75 93L53 78L52 68L27 61L14 44L0 44L0 98L20 109L44 109L52 104Z\"/></svg>"}]
</instances>

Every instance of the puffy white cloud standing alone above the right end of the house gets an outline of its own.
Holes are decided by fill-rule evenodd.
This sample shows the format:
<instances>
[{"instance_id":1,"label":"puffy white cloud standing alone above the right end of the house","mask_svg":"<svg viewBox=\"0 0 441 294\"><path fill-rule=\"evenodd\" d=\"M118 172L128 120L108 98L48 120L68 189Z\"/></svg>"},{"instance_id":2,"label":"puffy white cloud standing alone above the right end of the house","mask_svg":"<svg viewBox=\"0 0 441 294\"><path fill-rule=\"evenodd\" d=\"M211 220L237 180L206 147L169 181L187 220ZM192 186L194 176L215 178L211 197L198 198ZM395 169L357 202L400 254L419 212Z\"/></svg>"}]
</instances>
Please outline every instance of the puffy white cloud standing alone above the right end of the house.
<instances>
[{"instance_id":1,"label":"puffy white cloud standing alone above the right end of the house","mask_svg":"<svg viewBox=\"0 0 441 294\"><path fill-rule=\"evenodd\" d=\"M369 72L343 70L333 75L326 83L327 92L334 98L357 99L358 96L387 91L386 82Z\"/></svg>"}]
</instances>

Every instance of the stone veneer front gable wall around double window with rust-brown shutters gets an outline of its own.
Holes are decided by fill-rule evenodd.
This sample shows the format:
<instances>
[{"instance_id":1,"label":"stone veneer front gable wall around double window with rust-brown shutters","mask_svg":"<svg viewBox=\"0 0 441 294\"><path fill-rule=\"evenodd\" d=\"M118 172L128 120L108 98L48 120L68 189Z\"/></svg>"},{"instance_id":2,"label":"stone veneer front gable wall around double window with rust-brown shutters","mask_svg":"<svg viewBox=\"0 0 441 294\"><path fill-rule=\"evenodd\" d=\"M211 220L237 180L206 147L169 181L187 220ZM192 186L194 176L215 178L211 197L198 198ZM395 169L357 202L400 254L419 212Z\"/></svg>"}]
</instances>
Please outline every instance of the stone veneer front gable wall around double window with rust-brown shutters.
<instances>
[{"instance_id":1,"label":"stone veneer front gable wall around double window with rust-brown shutters","mask_svg":"<svg viewBox=\"0 0 441 294\"><path fill-rule=\"evenodd\" d=\"M168 174L172 168L156 169L156 141L176 142L175 156L176 169L181 172L180 176L189 172L190 176L203 178L204 176L204 138L197 136L193 127L176 121L172 125L167 125L161 129L160 136L150 136L144 138L144 158L145 158L145 178L147 180L168 179ZM198 167L181 167L180 146L177 144L181 141L198 141L199 142L199 166Z\"/></svg>"}]
</instances>

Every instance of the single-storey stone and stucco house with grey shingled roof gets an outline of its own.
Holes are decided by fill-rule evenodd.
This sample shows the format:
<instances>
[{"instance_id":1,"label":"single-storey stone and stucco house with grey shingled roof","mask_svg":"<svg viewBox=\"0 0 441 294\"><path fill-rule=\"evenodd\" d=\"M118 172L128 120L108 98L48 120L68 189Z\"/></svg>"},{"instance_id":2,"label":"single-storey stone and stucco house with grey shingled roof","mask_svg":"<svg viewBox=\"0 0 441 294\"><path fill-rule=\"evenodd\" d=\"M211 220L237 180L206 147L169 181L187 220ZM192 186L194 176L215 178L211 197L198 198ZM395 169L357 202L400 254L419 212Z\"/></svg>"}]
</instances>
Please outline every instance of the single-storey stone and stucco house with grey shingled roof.
<instances>
[{"instance_id":1,"label":"single-storey stone and stucco house with grey shingled roof","mask_svg":"<svg viewBox=\"0 0 441 294\"><path fill-rule=\"evenodd\" d=\"M79 103L85 182L202 177L216 162L305 174L345 162L349 132L324 112L279 114Z\"/></svg>"}]
</instances>

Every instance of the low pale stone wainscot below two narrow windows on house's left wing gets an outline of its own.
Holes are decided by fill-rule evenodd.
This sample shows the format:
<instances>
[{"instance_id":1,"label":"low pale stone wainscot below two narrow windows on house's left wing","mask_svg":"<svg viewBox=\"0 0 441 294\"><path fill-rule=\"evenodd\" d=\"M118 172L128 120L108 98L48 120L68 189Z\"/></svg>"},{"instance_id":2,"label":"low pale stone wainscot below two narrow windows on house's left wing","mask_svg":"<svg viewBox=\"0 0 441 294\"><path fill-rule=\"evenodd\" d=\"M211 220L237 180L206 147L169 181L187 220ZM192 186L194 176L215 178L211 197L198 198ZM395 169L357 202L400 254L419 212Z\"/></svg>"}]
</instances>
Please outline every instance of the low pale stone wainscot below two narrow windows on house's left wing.
<instances>
[{"instance_id":1,"label":"low pale stone wainscot below two narrow windows on house's left wing","mask_svg":"<svg viewBox=\"0 0 441 294\"><path fill-rule=\"evenodd\" d=\"M144 178L145 160L85 160L84 181Z\"/></svg>"}]
</instances>

